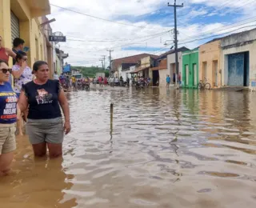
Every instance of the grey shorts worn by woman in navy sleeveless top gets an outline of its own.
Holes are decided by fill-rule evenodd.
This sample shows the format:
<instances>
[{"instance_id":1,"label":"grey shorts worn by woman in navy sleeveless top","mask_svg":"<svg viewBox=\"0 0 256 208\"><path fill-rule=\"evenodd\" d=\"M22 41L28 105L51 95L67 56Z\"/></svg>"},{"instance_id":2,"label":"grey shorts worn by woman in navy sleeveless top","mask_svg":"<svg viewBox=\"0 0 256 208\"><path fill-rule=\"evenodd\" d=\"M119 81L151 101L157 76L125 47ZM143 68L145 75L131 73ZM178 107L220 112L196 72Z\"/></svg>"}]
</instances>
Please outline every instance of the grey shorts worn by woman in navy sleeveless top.
<instances>
[{"instance_id":1,"label":"grey shorts worn by woman in navy sleeveless top","mask_svg":"<svg viewBox=\"0 0 256 208\"><path fill-rule=\"evenodd\" d=\"M26 134L29 135L32 145L43 142L61 144L64 138L62 118L28 119Z\"/></svg>"}]
</instances>

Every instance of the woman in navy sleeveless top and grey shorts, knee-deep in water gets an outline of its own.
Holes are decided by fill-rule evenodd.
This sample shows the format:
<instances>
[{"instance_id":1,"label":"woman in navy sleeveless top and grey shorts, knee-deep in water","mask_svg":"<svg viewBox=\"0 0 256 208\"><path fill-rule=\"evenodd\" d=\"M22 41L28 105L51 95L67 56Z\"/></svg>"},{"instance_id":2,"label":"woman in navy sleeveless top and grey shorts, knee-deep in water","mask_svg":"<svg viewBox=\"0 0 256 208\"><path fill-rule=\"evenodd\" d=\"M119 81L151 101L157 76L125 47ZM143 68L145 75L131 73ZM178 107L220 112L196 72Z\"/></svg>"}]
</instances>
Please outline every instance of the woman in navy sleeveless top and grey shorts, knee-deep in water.
<instances>
[{"instance_id":1,"label":"woman in navy sleeveless top and grey shorts, knee-deep in water","mask_svg":"<svg viewBox=\"0 0 256 208\"><path fill-rule=\"evenodd\" d=\"M60 82L49 79L47 62L34 63L36 79L22 86L18 105L23 112L29 105L26 133L34 156L43 157L48 147L50 158L62 156L64 133L70 132L70 108ZM65 122L62 122L62 111Z\"/></svg>"}]
</instances>

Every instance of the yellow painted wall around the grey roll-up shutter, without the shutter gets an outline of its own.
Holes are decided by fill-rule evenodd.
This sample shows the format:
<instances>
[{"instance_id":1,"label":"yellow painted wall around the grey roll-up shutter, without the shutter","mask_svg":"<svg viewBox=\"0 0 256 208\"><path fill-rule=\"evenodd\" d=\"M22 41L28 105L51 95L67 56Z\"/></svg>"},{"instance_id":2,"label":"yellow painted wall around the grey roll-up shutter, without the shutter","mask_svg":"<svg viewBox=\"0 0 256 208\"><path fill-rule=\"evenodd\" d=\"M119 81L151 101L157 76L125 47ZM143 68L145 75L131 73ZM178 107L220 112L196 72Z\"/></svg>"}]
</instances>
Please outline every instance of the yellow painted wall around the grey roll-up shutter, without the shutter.
<instances>
[{"instance_id":1,"label":"yellow painted wall around the grey roll-up shutter, without the shutter","mask_svg":"<svg viewBox=\"0 0 256 208\"><path fill-rule=\"evenodd\" d=\"M38 2L38 1L36 1ZM42 0L46 2L46 0ZM19 19L20 38L25 40L25 46L30 47L28 54L28 65L33 66L38 59L45 60L43 36L40 30L41 18L32 18L30 5L26 0L0 0L0 34L3 38L3 46L12 48L10 10ZM41 10L33 10L33 15ZM10 58L11 59L11 58ZM10 66L12 61L10 60Z\"/></svg>"}]
</instances>

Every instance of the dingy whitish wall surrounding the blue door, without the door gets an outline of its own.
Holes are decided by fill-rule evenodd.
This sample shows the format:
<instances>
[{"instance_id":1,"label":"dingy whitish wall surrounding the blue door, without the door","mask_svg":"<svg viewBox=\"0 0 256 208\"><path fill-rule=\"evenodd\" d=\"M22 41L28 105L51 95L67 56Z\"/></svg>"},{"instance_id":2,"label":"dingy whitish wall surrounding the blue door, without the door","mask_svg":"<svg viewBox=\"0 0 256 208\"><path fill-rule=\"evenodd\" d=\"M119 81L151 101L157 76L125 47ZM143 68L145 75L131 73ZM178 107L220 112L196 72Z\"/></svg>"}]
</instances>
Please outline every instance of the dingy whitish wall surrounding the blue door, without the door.
<instances>
[{"instance_id":1,"label":"dingy whitish wall surrounding the blue door, without the door","mask_svg":"<svg viewBox=\"0 0 256 208\"><path fill-rule=\"evenodd\" d=\"M228 84L228 55L246 51L249 52L249 87L252 90L254 89L252 82L256 81L256 41L222 50L222 86L227 86Z\"/></svg>"}]
</instances>

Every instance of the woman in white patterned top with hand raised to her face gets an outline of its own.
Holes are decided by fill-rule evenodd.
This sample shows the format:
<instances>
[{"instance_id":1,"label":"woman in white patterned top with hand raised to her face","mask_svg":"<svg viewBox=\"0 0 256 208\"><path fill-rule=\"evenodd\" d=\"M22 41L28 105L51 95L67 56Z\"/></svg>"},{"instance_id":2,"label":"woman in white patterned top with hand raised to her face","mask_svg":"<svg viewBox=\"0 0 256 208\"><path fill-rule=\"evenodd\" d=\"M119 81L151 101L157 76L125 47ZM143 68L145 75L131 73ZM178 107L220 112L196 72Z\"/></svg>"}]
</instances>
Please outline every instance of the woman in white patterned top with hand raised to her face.
<instances>
[{"instance_id":1,"label":"woman in white patterned top with hand raised to her face","mask_svg":"<svg viewBox=\"0 0 256 208\"><path fill-rule=\"evenodd\" d=\"M16 56L15 65L12 68L12 75L14 76L14 92L17 94L18 98L21 94L22 85L25 85L27 82L31 82L33 78L32 70L27 66L27 56L25 52L19 51ZM25 112L23 118L26 121ZM22 119L19 119L17 122L18 135L22 136Z\"/></svg>"}]
</instances>

